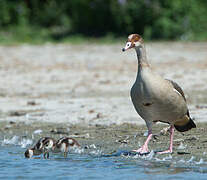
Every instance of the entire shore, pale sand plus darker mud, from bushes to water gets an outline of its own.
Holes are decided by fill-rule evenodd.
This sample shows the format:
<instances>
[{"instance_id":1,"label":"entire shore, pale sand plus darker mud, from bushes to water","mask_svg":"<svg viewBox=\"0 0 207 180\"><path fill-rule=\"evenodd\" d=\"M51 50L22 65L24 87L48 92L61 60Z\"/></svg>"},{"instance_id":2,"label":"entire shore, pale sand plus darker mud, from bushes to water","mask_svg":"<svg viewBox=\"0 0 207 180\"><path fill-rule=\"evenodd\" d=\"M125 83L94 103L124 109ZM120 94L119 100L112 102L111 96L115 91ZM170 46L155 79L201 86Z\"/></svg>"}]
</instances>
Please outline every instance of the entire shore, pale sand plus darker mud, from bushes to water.
<instances>
[{"instance_id":1,"label":"entire shore, pale sand plus darker mud, from bushes to water","mask_svg":"<svg viewBox=\"0 0 207 180\"><path fill-rule=\"evenodd\" d=\"M182 86L198 126L175 133L173 156L180 152L185 158L205 159L207 43L146 46L153 68ZM134 51L122 53L121 48L120 44L1 46L1 139L71 136L105 153L141 145L147 129L129 97L136 55ZM169 134L159 135L163 127L167 125L154 128L158 136L150 143L153 150L168 147ZM35 134L35 130L42 133Z\"/></svg>"}]
</instances>

